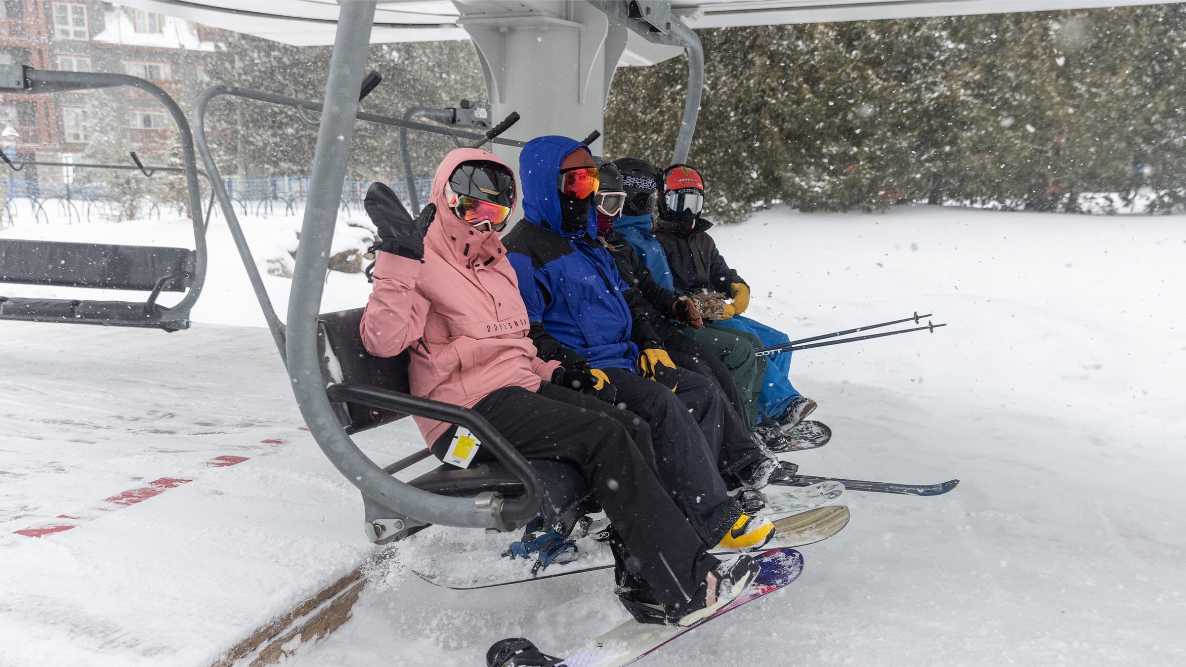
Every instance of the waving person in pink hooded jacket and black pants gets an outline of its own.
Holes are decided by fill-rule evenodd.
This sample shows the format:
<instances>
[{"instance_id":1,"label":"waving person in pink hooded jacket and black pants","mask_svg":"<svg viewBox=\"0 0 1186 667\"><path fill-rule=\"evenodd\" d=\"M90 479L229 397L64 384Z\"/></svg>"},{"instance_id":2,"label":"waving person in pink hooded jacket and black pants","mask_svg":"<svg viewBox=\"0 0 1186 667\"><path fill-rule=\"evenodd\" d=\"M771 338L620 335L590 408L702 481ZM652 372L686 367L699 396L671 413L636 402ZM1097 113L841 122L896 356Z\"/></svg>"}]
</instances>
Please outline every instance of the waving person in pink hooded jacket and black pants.
<instances>
[{"instance_id":1,"label":"waving person in pink hooded jacket and black pants","mask_svg":"<svg viewBox=\"0 0 1186 667\"><path fill-rule=\"evenodd\" d=\"M649 426L589 395L611 389L604 376L536 357L499 241L515 202L510 167L485 151L452 151L429 202L413 220L382 183L368 191L380 235L362 319L368 351L409 350L413 394L474 409L529 460L578 468L667 622L690 624L735 599L757 564L708 554L655 475ZM434 455L459 456L457 426L416 423ZM480 443L476 451L466 464L492 459Z\"/></svg>"}]
</instances>

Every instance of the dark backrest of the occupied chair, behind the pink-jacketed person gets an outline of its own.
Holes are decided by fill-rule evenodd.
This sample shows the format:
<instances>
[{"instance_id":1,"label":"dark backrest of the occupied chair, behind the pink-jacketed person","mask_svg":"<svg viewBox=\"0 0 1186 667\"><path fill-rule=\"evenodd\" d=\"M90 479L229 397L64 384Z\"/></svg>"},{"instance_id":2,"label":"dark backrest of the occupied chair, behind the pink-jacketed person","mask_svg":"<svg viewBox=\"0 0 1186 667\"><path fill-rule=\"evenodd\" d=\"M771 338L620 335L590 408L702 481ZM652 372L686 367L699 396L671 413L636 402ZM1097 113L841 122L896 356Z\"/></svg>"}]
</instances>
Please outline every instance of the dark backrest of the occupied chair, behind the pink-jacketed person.
<instances>
[{"instance_id":1,"label":"dark backrest of the occupied chair, behind the pink-jacketed person","mask_svg":"<svg viewBox=\"0 0 1186 667\"><path fill-rule=\"evenodd\" d=\"M318 318L318 348L325 382L368 385L407 394L408 352L384 358L371 355L363 345L359 326L365 309L324 313ZM353 434L407 417L355 402L336 404L338 421Z\"/></svg>"}]
</instances>

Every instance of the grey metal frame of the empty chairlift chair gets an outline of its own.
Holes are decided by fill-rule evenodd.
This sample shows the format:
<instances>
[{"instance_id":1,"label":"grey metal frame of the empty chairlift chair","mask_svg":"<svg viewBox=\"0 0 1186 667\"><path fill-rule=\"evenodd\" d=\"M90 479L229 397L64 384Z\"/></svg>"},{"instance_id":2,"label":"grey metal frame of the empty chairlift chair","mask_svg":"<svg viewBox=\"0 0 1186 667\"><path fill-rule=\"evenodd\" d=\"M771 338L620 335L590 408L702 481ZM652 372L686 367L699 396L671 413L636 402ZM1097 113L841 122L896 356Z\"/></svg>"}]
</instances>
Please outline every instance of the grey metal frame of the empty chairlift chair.
<instances>
[{"instance_id":1,"label":"grey metal frame of the empty chairlift chair","mask_svg":"<svg viewBox=\"0 0 1186 667\"><path fill-rule=\"evenodd\" d=\"M26 94L26 95L39 95L47 93L68 93L75 90L89 90L96 88L115 88L119 85L128 85L132 88L139 88L145 93L148 93L157 99L173 116L173 121L177 123L178 132L181 139L181 167L180 172L185 174L185 184L189 190L190 199L190 215L193 221L193 265L192 274L189 277L189 291L185 297L181 298L176 305L170 307L155 306L155 296L159 293L164 285L160 284L157 290L153 291L153 296L146 306L146 313L149 311L154 315L147 316L142 323L135 325L149 325L158 326L166 331L176 331L179 329L186 329L190 325L190 310L193 304L197 303L198 297L202 294L202 287L205 282L206 275L206 225L203 222L202 215L202 191L198 185L198 169L197 161L193 153L193 134L190 132L190 123L181 112L181 108L167 93L165 93L160 87L152 83L151 81L130 76L123 74L108 74L108 72L77 72L77 71L57 71L57 70L37 70L27 65L0 65L4 69L4 76L0 77L0 90L9 94ZM9 166L13 164L9 163ZM23 163L24 164L36 164L36 163ZM81 165L71 165L81 166ZM134 167L120 167L115 165L98 165L109 169L139 169L145 170L144 165L138 165ZM14 166L13 166L14 167ZM15 167L14 167L15 169ZM178 167L160 167L161 170L170 170ZM170 278L170 277L166 277ZM166 278L162 278L164 281ZM119 287L113 287L119 288ZM134 305L134 304L129 304ZM55 318L53 322L72 322L71 319ZM133 325L130 322L121 322L114 319L94 318L83 319L79 318L77 322L83 322L88 324L114 324L114 325Z\"/></svg>"}]
</instances>

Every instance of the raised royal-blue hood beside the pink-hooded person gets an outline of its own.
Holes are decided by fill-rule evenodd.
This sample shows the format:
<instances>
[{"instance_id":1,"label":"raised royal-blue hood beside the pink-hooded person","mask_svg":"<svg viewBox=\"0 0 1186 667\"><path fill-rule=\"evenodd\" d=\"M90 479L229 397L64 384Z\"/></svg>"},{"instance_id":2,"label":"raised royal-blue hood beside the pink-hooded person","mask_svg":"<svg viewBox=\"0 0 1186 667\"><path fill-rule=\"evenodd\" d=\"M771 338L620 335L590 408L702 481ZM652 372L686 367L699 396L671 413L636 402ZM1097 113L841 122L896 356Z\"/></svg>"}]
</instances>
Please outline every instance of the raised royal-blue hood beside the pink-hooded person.
<instances>
[{"instance_id":1,"label":"raised royal-blue hood beside the pink-hooded person","mask_svg":"<svg viewBox=\"0 0 1186 667\"><path fill-rule=\"evenodd\" d=\"M560 228L560 164L565 155L576 148L588 151L588 146L567 136L536 136L519 152L519 183L523 184L523 220L548 231L565 236L597 236L597 217L588 216L585 233L566 231ZM592 153L589 153L592 155ZM593 207L589 207L593 210Z\"/></svg>"}]
</instances>

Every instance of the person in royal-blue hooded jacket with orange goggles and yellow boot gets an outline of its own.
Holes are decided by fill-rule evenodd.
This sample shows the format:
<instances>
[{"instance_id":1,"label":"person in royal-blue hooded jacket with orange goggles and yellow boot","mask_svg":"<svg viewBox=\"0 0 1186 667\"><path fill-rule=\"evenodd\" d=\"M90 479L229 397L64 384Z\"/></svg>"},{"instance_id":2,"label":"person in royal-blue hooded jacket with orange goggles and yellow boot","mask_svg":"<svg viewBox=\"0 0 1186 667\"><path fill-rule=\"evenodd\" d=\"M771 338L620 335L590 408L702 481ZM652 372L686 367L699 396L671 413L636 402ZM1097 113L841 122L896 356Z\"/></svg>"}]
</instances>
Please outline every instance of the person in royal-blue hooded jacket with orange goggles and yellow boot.
<instances>
[{"instance_id":1,"label":"person in royal-blue hooded jacket with orange goggles and yellow boot","mask_svg":"<svg viewBox=\"0 0 1186 667\"><path fill-rule=\"evenodd\" d=\"M533 139L519 153L519 178L524 218L503 243L538 356L600 370L618 405L650 424L659 481L707 545L765 544L773 526L728 495L722 474L737 485L761 487L777 459L744 428L742 437L729 437L725 396L677 369L646 319L633 316L640 297L595 241L598 170L588 147L565 136Z\"/></svg>"}]
</instances>

